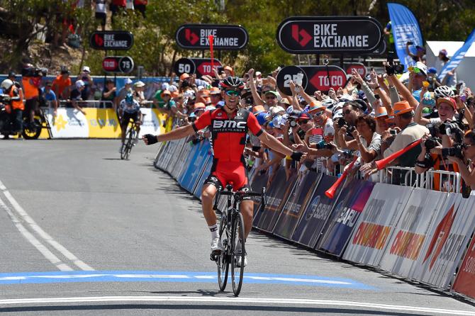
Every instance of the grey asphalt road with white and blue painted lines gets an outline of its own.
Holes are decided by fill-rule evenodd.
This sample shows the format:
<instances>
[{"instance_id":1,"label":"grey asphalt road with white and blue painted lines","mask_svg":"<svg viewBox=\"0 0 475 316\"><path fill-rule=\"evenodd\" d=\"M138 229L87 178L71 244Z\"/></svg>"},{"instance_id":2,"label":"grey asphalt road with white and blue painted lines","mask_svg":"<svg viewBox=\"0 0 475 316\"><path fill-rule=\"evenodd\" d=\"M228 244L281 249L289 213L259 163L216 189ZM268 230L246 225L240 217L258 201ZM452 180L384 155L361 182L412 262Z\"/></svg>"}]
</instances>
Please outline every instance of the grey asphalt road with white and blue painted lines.
<instances>
[{"instance_id":1,"label":"grey asphalt road with white and blue painted lines","mask_svg":"<svg viewBox=\"0 0 475 316\"><path fill-rule=\"evenodd\" d=\"M475 307L252 232L220 292L199 201L114 140L0 142L0 312L12 315L475 315Z\"/></svg>"}]
</instances>

